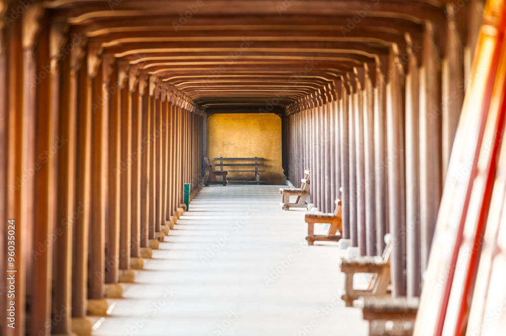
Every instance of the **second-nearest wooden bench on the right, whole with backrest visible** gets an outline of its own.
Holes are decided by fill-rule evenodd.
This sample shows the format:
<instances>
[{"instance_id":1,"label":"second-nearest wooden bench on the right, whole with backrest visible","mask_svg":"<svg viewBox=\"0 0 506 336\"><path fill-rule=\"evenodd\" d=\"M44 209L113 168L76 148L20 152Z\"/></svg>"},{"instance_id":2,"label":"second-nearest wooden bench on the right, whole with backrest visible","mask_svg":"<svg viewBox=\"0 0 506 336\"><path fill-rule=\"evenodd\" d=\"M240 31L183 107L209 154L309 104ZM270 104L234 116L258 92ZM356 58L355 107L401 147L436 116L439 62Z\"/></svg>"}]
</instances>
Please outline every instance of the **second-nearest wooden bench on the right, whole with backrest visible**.
<instances>
[{"instance_id":1,"label":"second-nearest wooden bench on the right, whole with backrest visible","mask_svg":"<svg viewBox=\"0 0 506 336\"><path fill-rule=\"evenodd\" d=\"M383 256L360 256L354 258L342 258L341 271L345 273L345 295L342 299L347 307L353 305L353 300L359 297L376 298L390 296L390 255L392 253L392 240L390 235L385 235L385 250ZM355 273L372 273L373 277L367 289L354 289L353 275Z\"/></svg>"}]
</instances>

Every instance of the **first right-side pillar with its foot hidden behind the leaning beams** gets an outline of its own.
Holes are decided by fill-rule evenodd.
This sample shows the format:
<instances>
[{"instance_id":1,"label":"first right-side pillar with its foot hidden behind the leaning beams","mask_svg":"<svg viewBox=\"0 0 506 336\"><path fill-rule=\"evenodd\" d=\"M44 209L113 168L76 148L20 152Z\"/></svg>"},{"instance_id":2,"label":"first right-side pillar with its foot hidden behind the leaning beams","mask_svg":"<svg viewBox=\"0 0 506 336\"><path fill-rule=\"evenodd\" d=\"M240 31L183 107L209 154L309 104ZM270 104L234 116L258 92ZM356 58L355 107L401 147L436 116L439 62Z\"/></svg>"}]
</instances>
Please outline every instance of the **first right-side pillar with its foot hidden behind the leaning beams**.
<instances>
[{"instance_id":1,"label":"first right-side pillar with its foot hidden behind the leaning beams","mask_svg":"<svg viewBox=\"0 0 506 336\"><path fill-rule=\"evenodd\" d=\"M440 105L438 55L434 44L432 25L424 26L421 67L419 71L419 127L420 127L420 263L427 268L432 237L441 199L441 117L437 114ZM435 111L436 110L436 111Z\"/></svg>"}]
</instances>

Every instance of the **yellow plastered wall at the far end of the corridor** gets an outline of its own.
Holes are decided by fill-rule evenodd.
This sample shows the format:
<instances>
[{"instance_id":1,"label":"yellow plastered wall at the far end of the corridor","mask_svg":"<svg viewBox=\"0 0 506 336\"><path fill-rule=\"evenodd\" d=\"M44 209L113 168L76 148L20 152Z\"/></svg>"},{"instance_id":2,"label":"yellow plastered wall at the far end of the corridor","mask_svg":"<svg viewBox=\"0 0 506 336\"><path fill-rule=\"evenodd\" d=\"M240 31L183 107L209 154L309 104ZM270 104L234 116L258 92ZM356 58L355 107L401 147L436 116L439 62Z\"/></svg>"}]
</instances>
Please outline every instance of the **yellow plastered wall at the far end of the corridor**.
<instances>
[{"instance_id":1,"label":"yellow plastered wall at the far end of the corridor","mask_svg":"<svg viewBox=\"0 0 506 336\"><path fill-rule=\"evenodd\" d=\"M263 157L260 180L284 185L281 166L281 118L273 113L213 114L207 119L207 156ZM224 162L225 163L225 162ZM239 162L237 162L239 163ZM255 167L224 167L224 170L254 170ZM220 167L215 167L220 170ZM229 177L254 177L255 173L229 173Z\"/></svg>"}]
</instances>

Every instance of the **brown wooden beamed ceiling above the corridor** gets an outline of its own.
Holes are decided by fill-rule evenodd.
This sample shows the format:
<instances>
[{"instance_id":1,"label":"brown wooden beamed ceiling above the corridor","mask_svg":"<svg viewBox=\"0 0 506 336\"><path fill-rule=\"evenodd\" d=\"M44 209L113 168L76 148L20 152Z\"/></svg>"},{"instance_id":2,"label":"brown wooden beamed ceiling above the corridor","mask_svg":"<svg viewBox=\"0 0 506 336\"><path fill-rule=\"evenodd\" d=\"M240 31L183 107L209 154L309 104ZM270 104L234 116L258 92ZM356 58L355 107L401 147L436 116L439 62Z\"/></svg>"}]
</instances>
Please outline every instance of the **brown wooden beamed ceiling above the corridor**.
<instances>
[{"instance_id":1,"label":"brown wooden beamed ceiling above the corridor","mask_svg":"<svg viewBox=\"0 0 506 336\"><path fill-rule=\"evenodd\" d=\"M43 6L55 30L68 28L76 44L88 39L89 55L116 61L120 75L149 74L169 99L184 97L200 110L335 100L335 88L350 74L360 85L364 71L373 78L376 65L386 68L391 50L399 60L416 51L424 25L438 43L440 23L459 9L458 2L436 0L57 0Z\"/></svg>"}]
</instances>

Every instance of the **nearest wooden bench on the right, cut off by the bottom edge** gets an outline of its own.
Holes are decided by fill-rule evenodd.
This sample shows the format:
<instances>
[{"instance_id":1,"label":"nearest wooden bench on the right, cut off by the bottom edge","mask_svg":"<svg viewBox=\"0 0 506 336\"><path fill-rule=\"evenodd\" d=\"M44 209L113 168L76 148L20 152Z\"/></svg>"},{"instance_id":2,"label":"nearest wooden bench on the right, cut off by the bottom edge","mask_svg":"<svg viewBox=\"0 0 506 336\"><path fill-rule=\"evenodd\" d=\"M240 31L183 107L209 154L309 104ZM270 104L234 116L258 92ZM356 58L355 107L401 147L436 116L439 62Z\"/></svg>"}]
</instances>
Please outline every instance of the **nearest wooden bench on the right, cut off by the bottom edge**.
<instances>
[{"instance_id":1,"label":"nearest wooden bench on the right, cut off by the bottom edge","mask_svg":"<svg viewBox=\"0 0 506 336\"><path fill-rule=\"evenodd\" d=\"M419 298L361 297L364 320L368 320L369 336L411 336Z\"/></svg>"}]
</instances>

